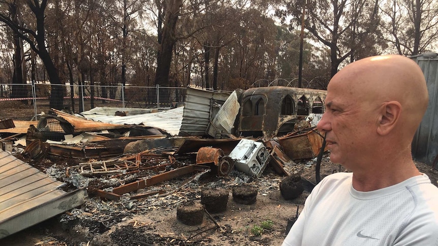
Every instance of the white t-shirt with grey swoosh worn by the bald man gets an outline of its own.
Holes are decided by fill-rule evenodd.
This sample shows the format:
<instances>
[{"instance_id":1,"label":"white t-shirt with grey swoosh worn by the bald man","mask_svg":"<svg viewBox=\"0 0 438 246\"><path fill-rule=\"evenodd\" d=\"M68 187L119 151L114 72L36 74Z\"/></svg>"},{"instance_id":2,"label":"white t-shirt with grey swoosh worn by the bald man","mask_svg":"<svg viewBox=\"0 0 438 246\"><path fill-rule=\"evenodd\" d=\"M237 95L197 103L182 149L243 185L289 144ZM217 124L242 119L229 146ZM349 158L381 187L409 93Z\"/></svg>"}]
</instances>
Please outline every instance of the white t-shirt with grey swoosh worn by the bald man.
<instances>
[{"instance_id":1,"label":"white t-shirt with grey swoosh worn by the bald man","mask_svg":"<svg viewBox=\"0 0 438 246\"><path fill-rule=\"evenodd\" d=\"M438 246L438 188L426 174L380 190L360 192L352 173L318 184L283 246Z\"/></svg>"}]
</instances>

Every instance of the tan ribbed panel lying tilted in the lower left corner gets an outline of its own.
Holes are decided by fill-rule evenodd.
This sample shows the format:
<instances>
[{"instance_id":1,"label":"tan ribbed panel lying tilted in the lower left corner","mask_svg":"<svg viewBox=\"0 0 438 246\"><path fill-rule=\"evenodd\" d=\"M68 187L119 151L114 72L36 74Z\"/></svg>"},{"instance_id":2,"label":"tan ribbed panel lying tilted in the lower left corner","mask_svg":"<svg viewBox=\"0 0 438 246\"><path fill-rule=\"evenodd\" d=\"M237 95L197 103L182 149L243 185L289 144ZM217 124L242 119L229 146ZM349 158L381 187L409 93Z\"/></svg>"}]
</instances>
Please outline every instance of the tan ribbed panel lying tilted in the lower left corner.
<instances>
[{"instance_id":1,"label":"tan ribbed panel lying tilted in the lower left corner","mask_svg":"<svg viewBox=\"0 0 438 246\"><path fill-rule=\"evenodd\" d=\"M0 238L85 202L85 188L67 193L64 185L0 149Z\"/></svg>"}]
</instances>

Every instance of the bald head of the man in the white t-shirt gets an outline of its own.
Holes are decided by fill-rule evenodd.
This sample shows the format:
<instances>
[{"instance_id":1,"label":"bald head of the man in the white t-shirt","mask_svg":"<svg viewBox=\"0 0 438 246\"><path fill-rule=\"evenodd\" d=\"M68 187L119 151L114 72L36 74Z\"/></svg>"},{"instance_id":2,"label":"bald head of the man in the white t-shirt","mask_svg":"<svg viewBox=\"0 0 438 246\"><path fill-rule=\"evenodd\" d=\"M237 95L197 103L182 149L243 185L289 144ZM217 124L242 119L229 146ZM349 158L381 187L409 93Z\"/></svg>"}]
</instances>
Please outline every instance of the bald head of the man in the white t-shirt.
<instances>
[{"instance_id":1,"label":"bald head of the man in the white t-shirt","mask_svg":"<svg viewBox=\"0 0 438 246\"><path fill-rule=\"evenodd\" d=\"M410 156L427 102L424 75L414 61L368 57L331 79L318 129L326 133L333 162L360 170L396 153Z\"/></svg>"}]
</instances>

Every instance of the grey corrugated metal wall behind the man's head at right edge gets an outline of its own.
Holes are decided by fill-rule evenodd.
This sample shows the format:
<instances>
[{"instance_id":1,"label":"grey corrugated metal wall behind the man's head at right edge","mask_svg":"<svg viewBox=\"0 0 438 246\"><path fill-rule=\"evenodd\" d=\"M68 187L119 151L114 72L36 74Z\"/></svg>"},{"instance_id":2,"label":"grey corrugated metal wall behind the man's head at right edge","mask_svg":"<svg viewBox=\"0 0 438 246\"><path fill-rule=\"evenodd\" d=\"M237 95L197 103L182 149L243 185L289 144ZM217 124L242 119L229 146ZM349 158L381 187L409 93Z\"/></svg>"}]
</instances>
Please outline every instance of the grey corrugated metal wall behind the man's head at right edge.
<instances>
[{"instance_id":1,"label":"grey corrugated metal wall behind the man's head at right edge","mask_svg":"<svg viewBox=\"0 0 438 246\"><path fill-rule=\"evenodd\" d=\"M414 159L432 164L438 155L438 55L425 53L414 59L421 67L429 91L429 105L412 142Z\"/></svg>"}]
</instances>

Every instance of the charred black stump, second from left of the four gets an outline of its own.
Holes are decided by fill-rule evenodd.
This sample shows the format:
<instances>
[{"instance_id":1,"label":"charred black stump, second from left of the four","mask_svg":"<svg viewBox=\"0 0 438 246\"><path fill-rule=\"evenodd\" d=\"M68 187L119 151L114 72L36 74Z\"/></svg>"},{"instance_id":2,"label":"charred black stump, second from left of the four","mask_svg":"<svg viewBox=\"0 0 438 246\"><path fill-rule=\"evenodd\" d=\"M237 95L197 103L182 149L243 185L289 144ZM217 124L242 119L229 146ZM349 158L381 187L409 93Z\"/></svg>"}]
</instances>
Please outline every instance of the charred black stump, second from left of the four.
<instances>
[{"instance_id":1,"label":"charred black stump, second from left of the four","mask_svg":"<svg viewBox=\"0 0 438 246\"><path fill-rule=\"evenodd\" d=\"M227 210L228 190L223 188L201 191L201 203L208 213L222 213Z\"/></svg>"}]
</instances>

